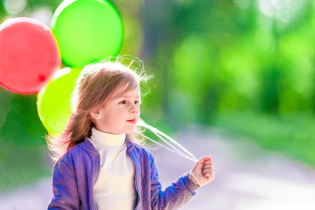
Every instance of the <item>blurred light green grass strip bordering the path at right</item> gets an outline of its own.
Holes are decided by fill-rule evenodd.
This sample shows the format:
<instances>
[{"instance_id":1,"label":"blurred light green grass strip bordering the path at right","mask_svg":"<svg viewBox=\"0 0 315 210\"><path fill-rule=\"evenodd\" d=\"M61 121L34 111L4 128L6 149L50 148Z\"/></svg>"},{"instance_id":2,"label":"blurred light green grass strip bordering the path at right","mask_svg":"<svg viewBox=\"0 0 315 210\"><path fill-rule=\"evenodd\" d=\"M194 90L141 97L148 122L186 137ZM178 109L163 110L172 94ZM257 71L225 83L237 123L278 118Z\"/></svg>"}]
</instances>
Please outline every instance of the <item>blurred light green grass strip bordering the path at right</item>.
<instances>
[{"instance_id":1,"label":"blurred light green grass strip bordering the path at right","mask_svg":"<svg viewBox=\"0 0 315 210\"><path fill-rule=\"evenodd\" d=\"M315 119L307 113L274 116L249 111L223 114L213 123L236 139L250 137L265 150L280 152L312 168L315 168L314 125Z\"/></svg>"}]
</instances>

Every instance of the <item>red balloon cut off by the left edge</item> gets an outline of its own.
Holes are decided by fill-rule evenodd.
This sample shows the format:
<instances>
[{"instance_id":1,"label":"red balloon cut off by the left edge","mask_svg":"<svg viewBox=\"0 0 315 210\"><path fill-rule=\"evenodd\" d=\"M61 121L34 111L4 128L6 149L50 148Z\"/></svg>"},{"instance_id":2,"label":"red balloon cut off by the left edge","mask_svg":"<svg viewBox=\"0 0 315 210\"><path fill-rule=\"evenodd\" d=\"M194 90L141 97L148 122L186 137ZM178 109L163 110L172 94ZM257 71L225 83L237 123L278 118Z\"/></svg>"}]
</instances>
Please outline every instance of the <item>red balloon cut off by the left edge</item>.
<instances>
[{"instance_id":1,"label":"red balloon cut off by the left edge","mask_svg":"<svg viewBox=\"0 0 315 210\"><path fill-rule=\"evenodd\" d=\"M36 93L60 65L56 40L45 24L14 18L0 25L0 84L5 88Z\"/></svg>"}]
</instances>

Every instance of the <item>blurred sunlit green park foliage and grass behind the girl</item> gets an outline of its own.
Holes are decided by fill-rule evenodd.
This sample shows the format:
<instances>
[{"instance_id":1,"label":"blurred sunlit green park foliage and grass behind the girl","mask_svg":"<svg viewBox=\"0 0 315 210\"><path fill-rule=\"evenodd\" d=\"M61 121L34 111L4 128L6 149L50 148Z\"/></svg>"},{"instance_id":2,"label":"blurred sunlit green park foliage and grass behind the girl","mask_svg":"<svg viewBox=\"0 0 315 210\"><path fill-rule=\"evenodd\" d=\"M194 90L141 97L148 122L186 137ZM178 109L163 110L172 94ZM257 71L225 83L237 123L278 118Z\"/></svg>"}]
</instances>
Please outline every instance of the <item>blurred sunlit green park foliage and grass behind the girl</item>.
<instances>
[{"instance_id":1,"label":"blurred sunlit green park foliage and grass behind the girl","mask_svg":"<svg viewBox=\"0 0 315 210\"><path fill-rule=\"evenodd\" d=\"M30 17L49 26L61 2L1 0L0 24ZM124 23L120 54L154 75L141 107L147 123L170 135L217 129L315 169L314 1L110 2ZM51 176L45 135L36 94L0 86L0 193Z\"/></svg>"}]
</instances>

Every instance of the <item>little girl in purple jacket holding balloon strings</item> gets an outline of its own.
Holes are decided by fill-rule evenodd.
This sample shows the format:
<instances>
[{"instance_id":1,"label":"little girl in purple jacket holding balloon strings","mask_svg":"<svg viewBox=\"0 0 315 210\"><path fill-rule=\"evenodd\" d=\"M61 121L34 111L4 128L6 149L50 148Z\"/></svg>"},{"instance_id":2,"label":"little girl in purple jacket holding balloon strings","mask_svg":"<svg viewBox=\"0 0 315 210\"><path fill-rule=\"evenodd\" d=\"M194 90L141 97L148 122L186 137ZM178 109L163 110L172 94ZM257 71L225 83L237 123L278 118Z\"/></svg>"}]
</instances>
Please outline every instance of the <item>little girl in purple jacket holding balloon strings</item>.
<instances>
[{"instance_id":1,"label":"little girl in purple jacket holding balloon strings","mask_svg":"<svg viewBox=\"0 0 315 210\"><path fill-rule=\"evenodd\" d=\"M76 81L71 115L47 136L55 161L48 209L178 209L214 179L211 156L164 191L141 131L140 83L148 77L120 59L86 65Z\"/></svg>"}]
</instances>

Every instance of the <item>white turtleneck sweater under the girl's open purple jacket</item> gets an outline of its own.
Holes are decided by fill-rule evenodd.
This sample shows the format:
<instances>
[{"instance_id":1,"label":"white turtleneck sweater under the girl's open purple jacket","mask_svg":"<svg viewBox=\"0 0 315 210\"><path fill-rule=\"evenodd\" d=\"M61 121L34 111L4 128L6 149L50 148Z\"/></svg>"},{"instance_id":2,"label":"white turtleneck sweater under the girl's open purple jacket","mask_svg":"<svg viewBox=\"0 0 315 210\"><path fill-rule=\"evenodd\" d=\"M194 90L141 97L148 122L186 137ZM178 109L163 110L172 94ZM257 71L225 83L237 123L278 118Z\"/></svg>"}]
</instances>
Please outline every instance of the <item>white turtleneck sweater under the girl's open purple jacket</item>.
<instances>
[{"instance_id":1,"label":"white turtleneck sweater under the girl's open purple jacket","mask_svg":"<svg viewBox=\"0 0 315 210\"><path fill-rule=\"evenodd\" d=\"M100 173L94 185L99 210L136 207L134 163L126 154L125 138L126 134L109 134L92 128L89 140L101 155Z\"/></svg>"}]
</instances>

